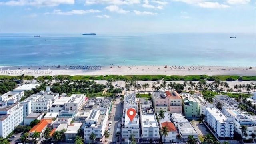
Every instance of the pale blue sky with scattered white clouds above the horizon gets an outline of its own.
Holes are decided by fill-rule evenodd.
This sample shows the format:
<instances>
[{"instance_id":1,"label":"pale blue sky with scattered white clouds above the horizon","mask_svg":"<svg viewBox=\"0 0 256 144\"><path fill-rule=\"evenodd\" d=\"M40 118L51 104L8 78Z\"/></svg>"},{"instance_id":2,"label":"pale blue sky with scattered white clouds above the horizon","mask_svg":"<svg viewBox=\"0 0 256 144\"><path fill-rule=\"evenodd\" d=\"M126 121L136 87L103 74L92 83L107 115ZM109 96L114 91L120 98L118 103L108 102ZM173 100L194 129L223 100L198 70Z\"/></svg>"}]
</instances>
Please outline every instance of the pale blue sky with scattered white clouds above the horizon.
<instances>
[{"instance_id":1,"label":"pale blue sky with scattered white clouds above the horizon","mask_svg":"<svg viewBox=\"0 0 256 144\"><path fill-rule=\"evenodd\" d=\"M0 32L254 32L255 0L0 0Z\"/></svg>"}]
</instances>

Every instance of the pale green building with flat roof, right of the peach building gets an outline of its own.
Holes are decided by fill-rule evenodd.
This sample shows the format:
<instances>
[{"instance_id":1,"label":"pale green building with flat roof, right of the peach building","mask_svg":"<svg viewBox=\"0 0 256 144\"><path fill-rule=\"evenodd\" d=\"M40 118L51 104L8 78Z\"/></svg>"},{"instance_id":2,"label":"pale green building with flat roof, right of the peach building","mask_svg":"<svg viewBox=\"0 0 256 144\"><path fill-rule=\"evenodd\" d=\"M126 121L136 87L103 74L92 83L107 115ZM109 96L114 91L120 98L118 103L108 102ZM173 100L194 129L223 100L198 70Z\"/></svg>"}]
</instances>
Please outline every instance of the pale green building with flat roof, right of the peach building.
<instances>
[{"instance_id":1,"label":"pale green building with flat roof, right of the peach building","mask_svg":"<svg viewBox=\"0 0 256 144\"><path fill-rule=\"evenodd\" d=\"M198 102L193 97L183 99L183 109L185 117L198 117L200 115Z\"/></svg>"}]
</instances>

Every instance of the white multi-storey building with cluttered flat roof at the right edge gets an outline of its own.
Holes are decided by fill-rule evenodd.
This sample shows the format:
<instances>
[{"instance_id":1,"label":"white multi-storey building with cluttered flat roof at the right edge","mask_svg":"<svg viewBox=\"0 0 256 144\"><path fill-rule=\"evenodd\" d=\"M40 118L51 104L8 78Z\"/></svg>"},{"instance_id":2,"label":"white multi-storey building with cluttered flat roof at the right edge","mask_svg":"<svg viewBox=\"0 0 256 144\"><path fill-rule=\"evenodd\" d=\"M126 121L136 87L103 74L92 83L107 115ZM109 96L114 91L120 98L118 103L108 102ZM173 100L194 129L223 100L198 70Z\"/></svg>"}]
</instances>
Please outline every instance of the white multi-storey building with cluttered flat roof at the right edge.
<instances>
[{"instance_id":1,"label":"white multi-storey building with cluttered flat roof at the right edge","mask_svg":"<svg viewBox=\"0 0 256 144\"><path fill-rule=\"evenodd\" d=\"M246 112L237 108L226 108L223 111L227 117L231 117L232 122L234 123L234 130L240 135L243 135L240 126L247 126L247 136L243 135L243 139L252 139L251 134L256 134L256 116L248 115Z\"/></svg>"}]
</instances>

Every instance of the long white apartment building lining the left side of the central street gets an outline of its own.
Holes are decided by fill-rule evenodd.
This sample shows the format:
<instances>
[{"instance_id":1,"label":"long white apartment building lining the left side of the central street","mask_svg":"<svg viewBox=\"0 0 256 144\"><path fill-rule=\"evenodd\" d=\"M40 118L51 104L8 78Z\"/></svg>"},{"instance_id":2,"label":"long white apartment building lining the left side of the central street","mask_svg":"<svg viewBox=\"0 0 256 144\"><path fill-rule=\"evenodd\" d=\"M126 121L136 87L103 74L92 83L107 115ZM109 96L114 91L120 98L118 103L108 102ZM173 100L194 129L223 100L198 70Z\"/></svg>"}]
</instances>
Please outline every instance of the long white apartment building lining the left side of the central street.
<instances>
[{"instance_id":1,"label":"long white apartment building lining the left side of the central street","mask_svg":"<svg viewBox=\"0 0 256 144\"><path fill-rule=\"evenodd\" d=\"M84 125L84 142L90 143L90 134L96 136L95 142L100 142L103 138L104 131L107 130L108 115L111 109L112 98L88 98L79 112L89 112L89 115L80 117L85 119Z\"/></svg>"}]
</instances>

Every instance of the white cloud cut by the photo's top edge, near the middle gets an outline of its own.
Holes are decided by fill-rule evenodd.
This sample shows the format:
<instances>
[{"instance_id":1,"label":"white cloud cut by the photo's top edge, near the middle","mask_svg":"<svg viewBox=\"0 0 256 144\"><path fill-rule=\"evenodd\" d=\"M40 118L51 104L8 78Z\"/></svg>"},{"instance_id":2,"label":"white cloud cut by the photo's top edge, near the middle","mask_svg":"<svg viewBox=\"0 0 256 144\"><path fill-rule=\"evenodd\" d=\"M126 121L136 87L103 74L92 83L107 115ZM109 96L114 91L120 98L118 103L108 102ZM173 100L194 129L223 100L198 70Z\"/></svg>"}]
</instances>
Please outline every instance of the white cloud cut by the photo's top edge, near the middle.
<instances>
[{"instance_id":1,"label":"white cloud cut by the photo's top edge, near the middle","mask_svg":"<svg viewBox=\"0 0 256 144\"><path fill-rule=\"evenodd\" d=\"M85 0L85 4L140 4L140 0Z\"/></svg>"}]
</instances>

